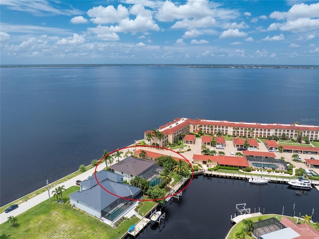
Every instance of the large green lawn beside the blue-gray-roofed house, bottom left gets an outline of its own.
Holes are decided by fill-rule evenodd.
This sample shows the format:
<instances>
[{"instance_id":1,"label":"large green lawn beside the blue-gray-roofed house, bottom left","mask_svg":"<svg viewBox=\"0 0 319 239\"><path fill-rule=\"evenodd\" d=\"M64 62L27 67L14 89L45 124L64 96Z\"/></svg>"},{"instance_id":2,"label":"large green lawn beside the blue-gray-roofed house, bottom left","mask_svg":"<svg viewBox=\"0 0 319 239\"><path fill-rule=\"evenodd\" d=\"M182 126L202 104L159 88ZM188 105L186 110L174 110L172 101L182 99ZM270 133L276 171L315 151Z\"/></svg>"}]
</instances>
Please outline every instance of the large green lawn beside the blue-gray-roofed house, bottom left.
<instances>
[{"instance_id":1,"label":"large green lawn beside the blue-gray-roofed house, bottom left","mask_svg":"<svg viewBox=\"0 0 319 239\"><path fill-rule=\"evenodd\" d=\"M46 200L37 206L18 215L18 227L12 228L10 224L0 225L0 238L10 239L47 239L47 238L78 238L78 239L118 239L133 224L139 221L134 217L124 221L117 229L101 223L83 211L79 211L66 203L68 196L78 190L73 186L63 192L65 203L59 204L53 200Z\"/></svg>"}]
</instances>

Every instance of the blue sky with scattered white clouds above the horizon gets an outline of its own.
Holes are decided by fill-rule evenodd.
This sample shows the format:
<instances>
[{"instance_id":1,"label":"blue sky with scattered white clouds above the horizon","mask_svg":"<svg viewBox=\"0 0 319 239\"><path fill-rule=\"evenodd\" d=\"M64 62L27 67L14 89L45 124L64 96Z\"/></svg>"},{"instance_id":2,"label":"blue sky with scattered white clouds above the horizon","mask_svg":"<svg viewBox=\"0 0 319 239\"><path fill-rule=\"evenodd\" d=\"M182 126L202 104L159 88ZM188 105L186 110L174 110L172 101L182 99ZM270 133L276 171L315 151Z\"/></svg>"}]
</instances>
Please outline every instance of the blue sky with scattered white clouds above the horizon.
<instances>
[{"instance_id":1,"label":"blue sky with scattered white clouds above the horizon","mask_svg":"<svg viewBox=\"0 0 319 239\"><path fill-rule=\"evenodd\" d=\"M319 65L319 1L1 0L1 64Z\"/></svg>"}]
</instances>

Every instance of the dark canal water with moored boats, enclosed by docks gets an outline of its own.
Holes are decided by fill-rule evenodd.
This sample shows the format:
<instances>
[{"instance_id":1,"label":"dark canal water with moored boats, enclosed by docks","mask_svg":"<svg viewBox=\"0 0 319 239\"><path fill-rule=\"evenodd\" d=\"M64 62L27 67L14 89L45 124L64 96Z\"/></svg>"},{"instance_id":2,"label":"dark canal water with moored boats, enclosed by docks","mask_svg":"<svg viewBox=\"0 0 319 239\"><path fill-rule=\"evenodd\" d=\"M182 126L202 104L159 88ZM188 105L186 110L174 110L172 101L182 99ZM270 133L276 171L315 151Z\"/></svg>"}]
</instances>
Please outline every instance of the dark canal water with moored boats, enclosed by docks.
<instances>
[{"instance_id":1,"label":"dark canal water with moored boats, enclosed by docks","mask_svg":"<svg viewBox=\"0 0 319 239\"><path fill-rule=\"evenodd\" d=\"M151 224L140 239L224 239L236 204L246 203L251 212L312 215L319 221L319 191L296 191L283 184L251 185L248 181L198 176L179 202L165 203L165 224Z\"/></svg>"}]
</instances>

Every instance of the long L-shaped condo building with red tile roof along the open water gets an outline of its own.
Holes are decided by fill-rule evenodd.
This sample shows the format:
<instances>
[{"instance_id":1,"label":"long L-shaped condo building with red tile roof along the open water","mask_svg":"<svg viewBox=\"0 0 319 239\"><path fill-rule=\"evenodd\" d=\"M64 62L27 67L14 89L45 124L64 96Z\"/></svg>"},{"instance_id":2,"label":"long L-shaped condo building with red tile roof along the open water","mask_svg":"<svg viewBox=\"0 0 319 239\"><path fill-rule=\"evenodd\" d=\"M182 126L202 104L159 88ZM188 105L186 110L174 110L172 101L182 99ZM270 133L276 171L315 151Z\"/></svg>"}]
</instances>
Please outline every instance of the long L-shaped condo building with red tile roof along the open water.
<instances>
[{"instance_id":1,"label":"long L-shaped condo building with red tile roof along the open water","mask_svg":"<svg viewBox=\"0 0 319 239\"><path fill-rule=\"evenodd\" d=\"M156 138L153 130L145 132L151 133L153 139L148 141L150 144L159 144L166 146L173 143L179 134L195 133L201 130L204 134L216 135L218 131L222 135L243 136L252 138L267 138L268 136L281 137L283 134L288 139L297 138L300 133L309 140L319 140L319 126L315 125L298 125L298 124L264 124L264 123L247 123L247 122L231 122L227 120L205 120L205 119L188 119L176 118L172 122L166 123L159 127L159 131L163 134L162 139Z\"/></svg>"}]
</instances>

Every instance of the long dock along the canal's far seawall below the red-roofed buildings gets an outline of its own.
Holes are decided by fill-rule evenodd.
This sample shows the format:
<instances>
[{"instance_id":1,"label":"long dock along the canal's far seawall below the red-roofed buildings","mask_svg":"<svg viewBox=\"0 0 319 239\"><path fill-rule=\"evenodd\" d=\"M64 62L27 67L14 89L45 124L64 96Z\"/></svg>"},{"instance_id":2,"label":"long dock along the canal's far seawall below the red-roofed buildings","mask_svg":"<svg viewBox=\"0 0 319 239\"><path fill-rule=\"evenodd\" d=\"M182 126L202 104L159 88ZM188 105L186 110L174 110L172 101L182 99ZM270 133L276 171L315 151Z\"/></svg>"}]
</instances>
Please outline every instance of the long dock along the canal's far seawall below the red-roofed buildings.
<instances>
[{"instance_id":1,"label":"long dock along the canal's far seawall below the red-roofed buildings","mask_svg":"<svg viewBox=\"0 0 319 239\"><path fill-rule=\"evenodd\" d=\"M221 173L221 172L215 172L215 171L207 171L203 170L203 175L208 177L218 177L218 178L228 178L228 179L239 179L239 180L248 180L251 177L254 179L257 179L258 177L261 177L261 175L252 175L252 174L238 174L237 171L234 171L233 173ZM270 183L277 183L277 184L288 184L288 182L294 180L291 179L291 177L283 177L271 173L264 173L263 178L268 180ZM314 185L317 189L319 188L319 180L310 180L310 183Z\"/></svg>"}]
</instances>

